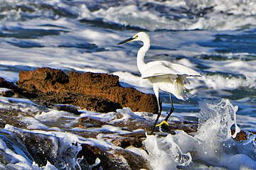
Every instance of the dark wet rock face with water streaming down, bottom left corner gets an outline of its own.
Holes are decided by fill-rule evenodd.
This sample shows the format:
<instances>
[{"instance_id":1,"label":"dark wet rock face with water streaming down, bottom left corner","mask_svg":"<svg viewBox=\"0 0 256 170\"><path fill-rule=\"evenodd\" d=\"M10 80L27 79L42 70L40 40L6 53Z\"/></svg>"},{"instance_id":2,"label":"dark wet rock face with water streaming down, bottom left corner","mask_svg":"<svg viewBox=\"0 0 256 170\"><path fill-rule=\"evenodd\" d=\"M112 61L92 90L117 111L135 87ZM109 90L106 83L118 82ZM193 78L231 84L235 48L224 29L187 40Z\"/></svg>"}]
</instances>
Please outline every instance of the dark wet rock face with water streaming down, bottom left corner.
<instances>
[{"instance_id":1,"label":"dark wet rock face with water streaming down, bottom left corner","mask_svg":"<svg viewBox=\"0 0 256 170\"><path fill-rule=\"evenodd\" d=\"M78 151L74 149L78 147L76 143L63 145L61 137L37 132L14 131L12 134L4 135L5 140L7 137L11 138L8 141L9 149L17 152L18 145L18 151L26 157L28 162L36 162L38 166L46 166L47 162L50 162L57 169L79 169L74 162L78 154Z\"/></svg>"}]
</instances>

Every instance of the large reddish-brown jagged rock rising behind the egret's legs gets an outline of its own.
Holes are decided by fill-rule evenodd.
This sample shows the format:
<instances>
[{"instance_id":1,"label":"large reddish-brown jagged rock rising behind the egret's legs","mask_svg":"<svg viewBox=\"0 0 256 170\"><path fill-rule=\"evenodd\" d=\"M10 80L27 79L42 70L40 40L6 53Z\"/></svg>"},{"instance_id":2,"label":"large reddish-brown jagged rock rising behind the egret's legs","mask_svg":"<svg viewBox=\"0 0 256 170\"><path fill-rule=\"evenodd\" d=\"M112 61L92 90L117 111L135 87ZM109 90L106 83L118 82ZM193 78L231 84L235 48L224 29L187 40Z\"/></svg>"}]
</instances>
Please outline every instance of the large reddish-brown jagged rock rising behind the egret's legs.
<instances>
[{"instance_id":1,"label":"large reddish-brown jagged rock rising behind the egret's legs","mask_svg":"<svg viewBox=\"0 0 256 170\"><path fill-rule=\"evenodd\" d=\"M154 95L124 88L111 74L69 72L39 68L21 71L18 87L37 94L38 100L73 104L90 111L110 112L129 107L132 111L157 112ZM43 94L42 94L43 93Z\"/></svg>"}]
</instances>

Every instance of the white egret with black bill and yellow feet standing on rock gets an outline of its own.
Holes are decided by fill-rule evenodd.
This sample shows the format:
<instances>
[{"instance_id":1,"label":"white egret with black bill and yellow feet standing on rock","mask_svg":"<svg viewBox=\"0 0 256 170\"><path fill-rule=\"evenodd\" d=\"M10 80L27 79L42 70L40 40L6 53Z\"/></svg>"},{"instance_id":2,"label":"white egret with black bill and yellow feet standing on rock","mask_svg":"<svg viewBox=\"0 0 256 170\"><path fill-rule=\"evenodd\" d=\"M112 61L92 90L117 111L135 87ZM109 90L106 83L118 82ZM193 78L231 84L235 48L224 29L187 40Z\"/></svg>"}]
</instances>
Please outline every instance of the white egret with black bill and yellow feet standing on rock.
<instances>
[{"instance_id":1,"label":"white egret with black bill and yellow feet standing on rock","mask_svg":"<svg viewBox=\"0 0 256 170\"><path fill-rule=\"evenodd\" d=\"M153 85L154 94L156 95L159 112L154 123L154 127L151 130L151 133L154 132L156 126L160 126L163 123L167 123L168 118L171 113L174 111L174 104L171 98L171 94L174 94L176 98L186 101L188 97L185 94L184 83L188 83L186 77L198 77L201 76L198 72L188 67L185 67L181 64L174 64L166 61L154 61L154 62L144 62L144 56L150 47L149 35L144 32L139 32L134 35L132 38L128 38L122 42L119 42L117 45L124 44L126 42L132 41L142 41L143 46L139 49L137 53L137 67L139 72L142 74L142 79L148 79ZM171 110L164 121L156 125L161 115L161 106L159 101L159 90L166 91L169 93L171 100Z\"/></svg>"}]
</instances>

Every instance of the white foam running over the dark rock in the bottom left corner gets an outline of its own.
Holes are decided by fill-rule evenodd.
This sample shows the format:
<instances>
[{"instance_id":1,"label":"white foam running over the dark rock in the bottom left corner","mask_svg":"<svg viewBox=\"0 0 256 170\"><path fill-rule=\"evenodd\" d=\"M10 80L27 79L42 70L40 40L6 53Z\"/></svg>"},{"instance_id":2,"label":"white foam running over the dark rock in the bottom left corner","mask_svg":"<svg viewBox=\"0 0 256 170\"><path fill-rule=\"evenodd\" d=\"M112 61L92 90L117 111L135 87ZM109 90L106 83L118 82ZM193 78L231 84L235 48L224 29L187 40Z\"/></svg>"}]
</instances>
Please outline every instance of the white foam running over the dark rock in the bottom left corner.
<instances>
[{"instance_id":1,"label":"white foam running over the dark rock in the bottom left corner","mask_svg":"<svg viewBox=\"0 0 256 170\"><path fill-rule=\"evenodd\" d=\"M14 128L11 125L6 125L4 130L8 132L14 132L18 134L22 133L31 133L31 135L35 135L38 138L44 137L43 139L48 139L53 142L53 148L51 148L51 152L58 154L59 161L65 162L66 167L70 169L74 169L75 166L79 166L76 159L78 152L81 150L80 143L82 142L80 139L82 137L78 137L77 135L70 134L68 132L46 132L43 130L21 130L18 128ZM77 143L78 145L73 145L73 143ZM59 145L60 144L60 145ZM14 147L16 145L14 144ZM70 149L68 156L66 155L67 149ZM74 155L73 155L74 154ZM41 169L38 168L38 165L31 162L30 159L21 153L18 155L10 152L10 157L15 157L18 159L18 162L15 164L14 162L10 162L8 166L17 167L17 169ZM55 169L55 167L51 164L46 164L43 169Z\"/></svg>"}]
</instances>

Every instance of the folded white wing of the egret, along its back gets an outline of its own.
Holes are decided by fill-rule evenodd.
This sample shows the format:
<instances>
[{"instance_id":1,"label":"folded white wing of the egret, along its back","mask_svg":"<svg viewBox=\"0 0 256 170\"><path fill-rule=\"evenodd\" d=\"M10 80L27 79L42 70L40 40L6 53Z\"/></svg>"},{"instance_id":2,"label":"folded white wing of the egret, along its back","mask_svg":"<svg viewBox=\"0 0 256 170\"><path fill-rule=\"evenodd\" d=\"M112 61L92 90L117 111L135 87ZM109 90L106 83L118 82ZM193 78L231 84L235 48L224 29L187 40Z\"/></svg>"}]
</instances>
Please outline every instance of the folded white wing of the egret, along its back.
<instances>
[{"instance_id":1,"label":"folded white wing of the egret, along its back","mask_svg":"<svg viewBox=\"0 0 256 170\"><path fill-rule=\"evenodd\" d=\"M146 64L146 69L142 71L142 79L149 77L178 77L201 76L198 72L181 64L174 64L166 61L155 61Z\"/></svg>"}]
</instances>

